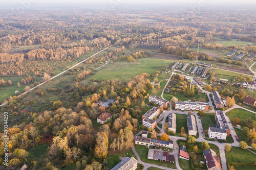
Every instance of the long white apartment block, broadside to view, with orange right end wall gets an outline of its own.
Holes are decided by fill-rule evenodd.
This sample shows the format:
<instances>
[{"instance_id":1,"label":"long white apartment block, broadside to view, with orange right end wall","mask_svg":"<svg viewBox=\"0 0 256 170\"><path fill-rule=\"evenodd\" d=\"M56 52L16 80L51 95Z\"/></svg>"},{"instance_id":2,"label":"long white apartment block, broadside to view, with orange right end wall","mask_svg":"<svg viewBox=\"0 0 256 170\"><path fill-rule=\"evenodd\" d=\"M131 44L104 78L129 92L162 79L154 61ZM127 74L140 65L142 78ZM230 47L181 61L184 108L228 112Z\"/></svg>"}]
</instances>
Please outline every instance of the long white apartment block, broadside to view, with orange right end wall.
<instances>
[{"instance_id":1,"label":"long white apartment block, broadside to view, with orange right end wall","mask_svg":"<svg viewBox=\"0 0 256 170\"><path fill-rule=\"evenodd\" d=\"M196 111L196 110L203 110L208 111L209 110L209 104L205 102L175 102L175 110L190 110L190 111Z\"/></svg>"}]
</instances>

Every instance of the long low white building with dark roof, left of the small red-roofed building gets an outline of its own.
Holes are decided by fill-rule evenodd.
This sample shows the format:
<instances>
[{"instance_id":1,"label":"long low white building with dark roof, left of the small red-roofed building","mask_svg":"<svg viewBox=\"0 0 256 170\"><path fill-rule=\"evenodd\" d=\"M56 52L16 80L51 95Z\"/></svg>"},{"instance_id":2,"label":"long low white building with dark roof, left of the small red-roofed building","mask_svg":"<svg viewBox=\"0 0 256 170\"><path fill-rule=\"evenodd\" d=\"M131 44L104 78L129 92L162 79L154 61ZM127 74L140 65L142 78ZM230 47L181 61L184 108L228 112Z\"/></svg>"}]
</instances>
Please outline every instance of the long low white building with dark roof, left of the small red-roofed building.
<instances>
[{"instance_id":1,"label":"long low white building with dark roof, left of the small red-roofed building","mask_svg":"<svg viewBox=\"0 0 256 170\"><path fill-rule=\"evenodd\" d=\"M158 147L165 147L165 148L174 148L173 140L163 141L163 140L156 140L152 138L140 137L137 136L135 139L135 144L140 145L148 145L148 146L158 146Z\"/></svg>"}]
</instances>

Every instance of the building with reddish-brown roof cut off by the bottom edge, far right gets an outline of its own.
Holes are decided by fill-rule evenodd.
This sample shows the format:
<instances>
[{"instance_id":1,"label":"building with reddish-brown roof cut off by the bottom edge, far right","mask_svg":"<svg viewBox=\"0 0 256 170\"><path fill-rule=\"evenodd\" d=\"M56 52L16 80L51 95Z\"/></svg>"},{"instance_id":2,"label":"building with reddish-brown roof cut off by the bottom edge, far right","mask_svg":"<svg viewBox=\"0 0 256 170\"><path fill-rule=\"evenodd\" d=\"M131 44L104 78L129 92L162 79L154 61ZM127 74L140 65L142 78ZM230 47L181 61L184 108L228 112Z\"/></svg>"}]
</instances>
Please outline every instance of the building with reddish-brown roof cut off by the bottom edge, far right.
<instances>
[{"instance_id":1,"label":"building with reddish-brown roof cut off by the bottom edge, far right","mask_svg":"<svg viewBox=\"0 0 256 170\"><path fill-rule=\"evenodd\" d=\"M222 170L220 158L217 156L216 152L211 149L205 150L204 159L208 170Z\"/></svg>"}]
</instances>

